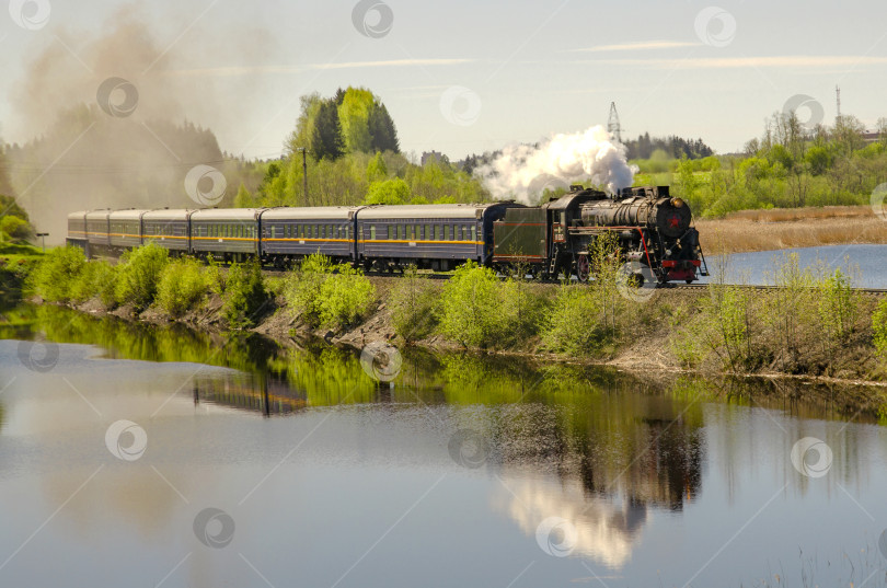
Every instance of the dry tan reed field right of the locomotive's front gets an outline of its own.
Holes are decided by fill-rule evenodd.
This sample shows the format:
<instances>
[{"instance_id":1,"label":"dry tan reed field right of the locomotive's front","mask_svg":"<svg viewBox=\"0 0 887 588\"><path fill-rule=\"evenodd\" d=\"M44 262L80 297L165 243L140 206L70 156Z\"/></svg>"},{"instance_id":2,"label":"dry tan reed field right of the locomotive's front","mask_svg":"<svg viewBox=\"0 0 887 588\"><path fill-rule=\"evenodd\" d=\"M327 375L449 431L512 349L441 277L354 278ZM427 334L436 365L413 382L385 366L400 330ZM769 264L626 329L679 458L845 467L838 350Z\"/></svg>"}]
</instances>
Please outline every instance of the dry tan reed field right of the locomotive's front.
<instances>
[{"instance_id":1,"label":"dry tan reed field right of the locomotive's front","mask_svg":"<svg viewBox=\"0 0 887 588\"><path fill-rule=\"evenodd\" d=\"M887 244L887 221L867 206L742 210L696 221L705 253L741 253L845 243Z\"/></svg>"}]
</instances>

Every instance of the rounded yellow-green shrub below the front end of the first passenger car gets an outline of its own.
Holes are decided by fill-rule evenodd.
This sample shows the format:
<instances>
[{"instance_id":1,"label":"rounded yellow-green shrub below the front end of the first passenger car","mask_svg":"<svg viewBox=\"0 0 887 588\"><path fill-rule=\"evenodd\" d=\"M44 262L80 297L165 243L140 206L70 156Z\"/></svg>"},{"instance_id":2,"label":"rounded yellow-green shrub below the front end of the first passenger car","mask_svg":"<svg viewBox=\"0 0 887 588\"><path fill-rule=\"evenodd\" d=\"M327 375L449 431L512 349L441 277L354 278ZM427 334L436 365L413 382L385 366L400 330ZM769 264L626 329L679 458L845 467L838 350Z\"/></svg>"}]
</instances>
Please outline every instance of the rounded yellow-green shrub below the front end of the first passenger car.
<instances>
[{"instance_id":1,"label":"rounded yellow-green shrub below the front end of the first passenger car","mask_svg":"<svg viewBox=\"0 0 887 588\"><path fill-rule=\"evenodd\" d=\"M483 347L500 334L499 280L495 272L468 262L444 287L440 328L465 347Z\"/></svg>"}]
</instances>

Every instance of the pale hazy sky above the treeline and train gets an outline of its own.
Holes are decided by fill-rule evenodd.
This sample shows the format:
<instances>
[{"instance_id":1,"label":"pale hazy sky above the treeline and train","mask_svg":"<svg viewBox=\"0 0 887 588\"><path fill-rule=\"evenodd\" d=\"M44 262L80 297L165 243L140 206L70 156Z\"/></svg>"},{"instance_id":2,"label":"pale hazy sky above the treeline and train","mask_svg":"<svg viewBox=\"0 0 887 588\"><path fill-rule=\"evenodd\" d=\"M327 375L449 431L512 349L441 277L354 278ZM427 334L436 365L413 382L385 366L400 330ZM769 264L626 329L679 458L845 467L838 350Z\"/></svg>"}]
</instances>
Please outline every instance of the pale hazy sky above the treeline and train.
<instances>
[{"instance_id":1,"label":"pale hazy sky above the treeline and train","mask_svg":"<svg viewBox=\"0 0 887 588\"><path fill-rule=\"evenodd\" d=\"M150 32L150 70L89 62L120 10ZM19 109L30 69L53 49L90 82L46 96L59 107L94 103L108 77L138 88L153 76L180 92L174 116L247 158L283 152L300 96L347 85L382 100L407 153L457 160L580 131L606 125L611 102L623 137L702 138L728 153L786 104L831 124L836 85L844 114L869 128L887 117L885 16L883 1L11 0L0 137L23 142L50 125Z\"/></svg>"}]
</instances>

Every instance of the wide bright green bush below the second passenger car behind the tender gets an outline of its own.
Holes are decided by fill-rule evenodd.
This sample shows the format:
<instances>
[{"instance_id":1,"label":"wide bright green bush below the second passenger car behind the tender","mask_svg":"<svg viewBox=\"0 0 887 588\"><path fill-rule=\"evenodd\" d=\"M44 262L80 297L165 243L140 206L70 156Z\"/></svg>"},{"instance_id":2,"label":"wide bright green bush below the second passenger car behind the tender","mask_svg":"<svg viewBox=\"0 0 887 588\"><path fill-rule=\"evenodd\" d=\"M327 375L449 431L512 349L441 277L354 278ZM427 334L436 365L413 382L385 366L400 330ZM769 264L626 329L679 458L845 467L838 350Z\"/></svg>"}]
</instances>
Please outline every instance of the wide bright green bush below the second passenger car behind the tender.
<instances>
[{"instance_id":1,"label":"wide bright green bush below the second passenger car behind the tender","mask_svg":"<svg viewBox=\"0 0 887 588\"><path fill-rule=\"evenodd\" d=\"M309 255L284 289L290 311L311 326L335 327L367 313L376 289L360 269Z\"/></svg>"}]
</instances>

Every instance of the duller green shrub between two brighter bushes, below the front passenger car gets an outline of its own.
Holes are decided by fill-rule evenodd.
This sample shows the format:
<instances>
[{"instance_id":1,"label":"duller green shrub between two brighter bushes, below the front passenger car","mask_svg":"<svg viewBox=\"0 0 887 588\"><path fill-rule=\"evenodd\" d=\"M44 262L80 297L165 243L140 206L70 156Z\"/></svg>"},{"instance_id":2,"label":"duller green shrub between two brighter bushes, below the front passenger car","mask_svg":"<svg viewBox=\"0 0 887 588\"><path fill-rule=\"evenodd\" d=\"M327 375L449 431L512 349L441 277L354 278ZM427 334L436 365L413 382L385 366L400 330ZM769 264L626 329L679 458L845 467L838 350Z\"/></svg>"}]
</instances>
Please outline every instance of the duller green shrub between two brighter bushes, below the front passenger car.
<instances>
[{"instance_id":1,"label":"duller green shrub between two brighter bushes, below the front passenger car","mask_svg":"<svg viewBox=\"0 0 887 588\"><path fill-rule=\"evenodd\" d=\"M430 335L438 324L439 295L439 288L430 279L419 275L415 267L407 268L392 289L389 301L394 332L405 341Z\"/></svg>"}]
</instances>

